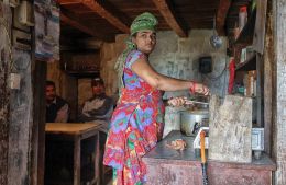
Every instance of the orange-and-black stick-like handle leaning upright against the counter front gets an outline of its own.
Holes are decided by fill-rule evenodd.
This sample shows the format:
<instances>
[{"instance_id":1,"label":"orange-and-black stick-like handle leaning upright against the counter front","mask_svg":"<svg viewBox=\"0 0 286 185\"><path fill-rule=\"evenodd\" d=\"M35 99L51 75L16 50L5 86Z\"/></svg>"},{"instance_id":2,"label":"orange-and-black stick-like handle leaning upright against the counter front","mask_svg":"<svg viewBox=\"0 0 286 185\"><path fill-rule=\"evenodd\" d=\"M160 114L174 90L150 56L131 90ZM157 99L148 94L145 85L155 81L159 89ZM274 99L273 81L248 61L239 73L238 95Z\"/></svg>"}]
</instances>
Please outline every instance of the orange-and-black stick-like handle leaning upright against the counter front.
<instances>
[{"instance_id":1,"label":"orange-and-black stick-like handle leaning upright against the counter front","mask_svg":"<svg viewBox=\"0 0 286 185\"><path fill-rule=\"evenodd\" d=\"M202 185L208 185L209 181L208 181L208 174L207 174L205 137L206 137L206 132L202 130L200 132L200 158L201 158L201 171L202 171Z\"/></svg>"}]
</instances>

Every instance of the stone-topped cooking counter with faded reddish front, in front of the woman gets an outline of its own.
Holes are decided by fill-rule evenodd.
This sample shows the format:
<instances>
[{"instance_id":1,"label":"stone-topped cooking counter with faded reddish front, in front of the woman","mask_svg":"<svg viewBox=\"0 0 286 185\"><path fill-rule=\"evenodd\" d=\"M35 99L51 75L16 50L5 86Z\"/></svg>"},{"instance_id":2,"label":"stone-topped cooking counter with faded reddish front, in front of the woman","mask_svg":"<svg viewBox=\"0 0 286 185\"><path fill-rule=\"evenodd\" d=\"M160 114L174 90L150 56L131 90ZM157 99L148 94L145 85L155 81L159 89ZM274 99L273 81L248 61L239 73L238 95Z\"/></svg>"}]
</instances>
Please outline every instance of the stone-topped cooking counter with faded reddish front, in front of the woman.
<instances>
[{"instance_id":1,"label":"stone-topped cooking counter with faded reddish front, in front of the woman","mask_svg":"<svg viewBox=\"0 0 286 185\"><path fill-rule=\"evenodd\" d=\"M166 147L175 139L184 139L187 149L176 151ZM201 164L199 153L193 148L194 137L186 137L180 131L172 131L148 152L143 161L147 166L150 185L201 185ZM210 185L270 185L275 163L265 153L251 163L208 161Z\"/></svg>"}]
</instances>

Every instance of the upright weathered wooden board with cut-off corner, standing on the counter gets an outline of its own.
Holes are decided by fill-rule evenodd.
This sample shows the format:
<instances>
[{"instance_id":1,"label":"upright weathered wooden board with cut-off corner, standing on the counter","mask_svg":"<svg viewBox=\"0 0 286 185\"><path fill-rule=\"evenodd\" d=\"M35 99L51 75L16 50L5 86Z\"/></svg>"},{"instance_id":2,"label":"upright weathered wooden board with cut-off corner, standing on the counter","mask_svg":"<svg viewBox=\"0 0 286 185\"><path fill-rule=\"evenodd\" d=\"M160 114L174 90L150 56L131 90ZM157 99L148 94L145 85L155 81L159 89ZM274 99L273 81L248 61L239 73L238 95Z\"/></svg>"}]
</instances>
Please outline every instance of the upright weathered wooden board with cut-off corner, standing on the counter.
<instances>
[{"instance_id":1,"label":"upright weathered wooden board with cut-off corner, standing on the counter","mask_svg":"<svg viewBox=\"0 0 286 185\"><path fill-rule=\"evenodd\" d=\"M252 99L227 95L209 125L209 159L251 162Z\"/></svg>"}]
</instances>

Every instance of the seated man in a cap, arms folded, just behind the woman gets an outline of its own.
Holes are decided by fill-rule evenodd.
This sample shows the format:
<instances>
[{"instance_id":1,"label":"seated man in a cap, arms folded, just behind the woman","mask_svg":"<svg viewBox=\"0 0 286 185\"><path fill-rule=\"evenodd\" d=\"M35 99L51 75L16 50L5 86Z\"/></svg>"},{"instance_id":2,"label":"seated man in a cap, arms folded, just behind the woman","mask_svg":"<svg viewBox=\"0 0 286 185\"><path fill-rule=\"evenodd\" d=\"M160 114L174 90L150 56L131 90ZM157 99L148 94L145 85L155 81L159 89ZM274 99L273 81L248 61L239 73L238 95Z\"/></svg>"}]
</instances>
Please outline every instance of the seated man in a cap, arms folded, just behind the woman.
<instances>
[{"instance_id":1,"label":"seated man in a cap, arms folded, just behind the woman","mask_svg":"<svg viewBox=\"0 0 286 185\"><path fill-rule=\"evenodd\" d=\"M108 123L113 112L113 101L106 95L105 83L100 78L91 81L92 97L84 104L79 119L81 122L97 122L103 124L103 130L107 132Z\"/></svg>"}]
</instances>

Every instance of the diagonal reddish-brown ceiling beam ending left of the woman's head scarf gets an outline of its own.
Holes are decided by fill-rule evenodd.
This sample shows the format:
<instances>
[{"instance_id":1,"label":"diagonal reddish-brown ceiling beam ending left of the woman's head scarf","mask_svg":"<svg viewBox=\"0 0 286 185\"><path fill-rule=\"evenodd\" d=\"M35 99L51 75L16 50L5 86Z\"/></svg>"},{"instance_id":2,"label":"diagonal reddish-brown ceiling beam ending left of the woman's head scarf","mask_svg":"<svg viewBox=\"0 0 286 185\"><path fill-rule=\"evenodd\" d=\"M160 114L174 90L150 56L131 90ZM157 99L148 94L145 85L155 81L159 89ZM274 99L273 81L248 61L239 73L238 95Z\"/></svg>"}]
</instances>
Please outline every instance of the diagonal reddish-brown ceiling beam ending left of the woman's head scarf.
<instances>
[{"instance_id":1,"label":"diagonal reddish-brown ceiling beam ending left of the woman's head scarf","mask_svg":"<svg viewBox=\"0 0 286 185\"><path fill-rule=\"evenodd\" d=\"M82 0L82 3L98 13L101 18L106 19L110 24L122 31L123 33L129 33L129 26L119 20L116 15L109 12L105 7L102 7L98 0Z\"/></svg>"}]
</instances>

